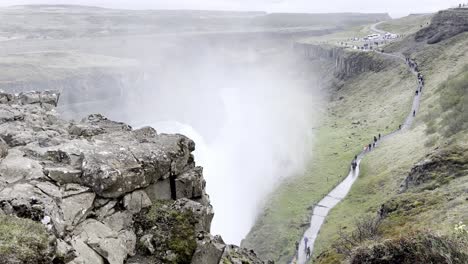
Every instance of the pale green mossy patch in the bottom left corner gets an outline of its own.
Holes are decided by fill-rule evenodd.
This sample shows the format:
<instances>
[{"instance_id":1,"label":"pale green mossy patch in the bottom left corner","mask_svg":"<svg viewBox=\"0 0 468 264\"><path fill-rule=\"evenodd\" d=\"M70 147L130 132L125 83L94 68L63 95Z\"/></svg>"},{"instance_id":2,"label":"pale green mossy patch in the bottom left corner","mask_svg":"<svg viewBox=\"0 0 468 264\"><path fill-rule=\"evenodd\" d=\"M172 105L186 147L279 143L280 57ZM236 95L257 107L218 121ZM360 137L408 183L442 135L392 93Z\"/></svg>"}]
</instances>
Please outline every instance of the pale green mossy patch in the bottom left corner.
<instances>
[{"instance_id":1,"label":"pale green mossy patch in the bottom left corner","mask_svg":"<svg viewBox=\"0 0 468 264\"><path fill-rule=\"evenodd\" d=\"M50 263L47 231L29 219L0 215L0 263Z\"/></svg>"}]
</instances>

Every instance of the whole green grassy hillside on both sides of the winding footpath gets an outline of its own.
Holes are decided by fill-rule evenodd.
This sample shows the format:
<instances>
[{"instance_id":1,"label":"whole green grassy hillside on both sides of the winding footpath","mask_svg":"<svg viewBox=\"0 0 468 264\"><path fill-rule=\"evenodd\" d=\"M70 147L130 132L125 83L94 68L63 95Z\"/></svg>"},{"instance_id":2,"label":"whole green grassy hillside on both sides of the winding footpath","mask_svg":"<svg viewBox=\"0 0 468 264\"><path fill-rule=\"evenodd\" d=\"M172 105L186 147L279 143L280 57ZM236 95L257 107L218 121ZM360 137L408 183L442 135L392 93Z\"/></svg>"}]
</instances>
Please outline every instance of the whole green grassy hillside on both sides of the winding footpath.
<instances>
[{"instance_id":1,"label":"whole green grassy hillside on both sides of the winding footpath","mask_svg":"<svg viewBox=\"0 0 468 264\"><path fill-rule=\"evenodd\" d=\"M411 32L419 27L420 19L400 30ZM405 23L410 23L408 18L392 25ZM348 37L363 30L367 29L356 28L348 32ZM346 38L346 33L327 37L336 41ZM464 163L468 159L463 154L467 150L467 44L468 33L436 45L416 43L411 37L390 45L393 52L411 54L426 76L421 108L412 129L390 138L362 161L360 178L322 227L314 250L315 256L320 255L318 263L344 260L345 254L338 254L334 246L343 238L339 233L350 234L356 230L356 222L375 218L382 205L401 208L389 212L381 223L382 239L401 241L401 234L424 229L451 235L456 223L468 222L463 191L468 187L468 177L464 177L467 174L463 167L456 172L461 175L457 177L451 171L432 171L430 180L399 194L402 182L418 162L430 157L451 168L454 160ZM346 175L353 153L376 133L396 127L409 113L416 81L405 69L401 64L389 65L377 74L361 74L334 85L322 126L317 129L310 166L304 175L290 179L272 194L265 213L244 241L245 246L280 263L289 260L294 254L294 242L307 227L313 204ZM372 242L365 240L362 246Z\"/></svg>"}]
</instances>

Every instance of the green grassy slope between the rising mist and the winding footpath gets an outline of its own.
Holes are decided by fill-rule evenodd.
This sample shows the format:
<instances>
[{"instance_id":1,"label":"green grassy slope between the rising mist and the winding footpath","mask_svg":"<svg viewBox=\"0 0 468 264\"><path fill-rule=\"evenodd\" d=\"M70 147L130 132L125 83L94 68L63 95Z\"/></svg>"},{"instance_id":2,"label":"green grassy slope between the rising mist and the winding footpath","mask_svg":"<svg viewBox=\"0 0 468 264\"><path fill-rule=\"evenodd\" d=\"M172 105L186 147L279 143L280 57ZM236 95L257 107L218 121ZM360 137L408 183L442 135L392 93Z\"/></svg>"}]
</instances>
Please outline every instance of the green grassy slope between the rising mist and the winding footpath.
<instances>
[{"instance_id":1,"label":"green grassy slope between the rising mist and the winding footpath","mask_svg":"<svg viewBox=\"0 0 468 264\"><path fill-rule=\"evenodd\" d=\"M289 261L295 241L308 227L312 205L347 175L349 162L373 136L398 128L410 110L413 86L414 77L398 63L335 83L306 173L288 179L272 194L242 246L265 259Z\"/></svg>"}]
</instances>

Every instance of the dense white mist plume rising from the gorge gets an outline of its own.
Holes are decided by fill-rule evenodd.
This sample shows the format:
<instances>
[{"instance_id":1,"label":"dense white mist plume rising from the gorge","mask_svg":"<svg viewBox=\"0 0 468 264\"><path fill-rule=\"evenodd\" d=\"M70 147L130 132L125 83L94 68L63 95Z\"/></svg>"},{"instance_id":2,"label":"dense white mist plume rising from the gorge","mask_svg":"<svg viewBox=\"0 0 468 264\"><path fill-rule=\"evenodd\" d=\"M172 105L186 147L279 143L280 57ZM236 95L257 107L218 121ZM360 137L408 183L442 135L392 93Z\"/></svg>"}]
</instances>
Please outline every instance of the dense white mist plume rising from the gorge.
<instances>
[{"instance_id":1,"label":"dense white mist plume rising from the gorge","mask_svg":"<svg viewBox=\"0 0 468 264\"><path fill-rule=\"evenodd\" d=\"M134 126L196 142L215 211L212 233L233 244L274 187L303 173L322 100L314 72L290 46L237 41L175 45L165 52L178 55L146 66L143 85L127 94L124 107Z\"/></svg>"}]
</instances>

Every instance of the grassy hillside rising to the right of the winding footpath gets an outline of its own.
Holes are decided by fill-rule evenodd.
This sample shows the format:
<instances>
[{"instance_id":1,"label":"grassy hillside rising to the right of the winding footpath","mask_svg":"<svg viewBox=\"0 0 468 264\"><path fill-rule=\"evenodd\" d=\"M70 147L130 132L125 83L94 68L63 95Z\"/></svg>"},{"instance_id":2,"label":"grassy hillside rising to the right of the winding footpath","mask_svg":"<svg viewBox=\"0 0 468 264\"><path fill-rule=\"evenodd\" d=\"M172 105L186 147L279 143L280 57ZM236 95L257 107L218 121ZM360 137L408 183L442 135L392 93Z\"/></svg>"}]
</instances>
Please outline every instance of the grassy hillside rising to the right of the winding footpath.
<instances>
[{"instance_id":1,"label":"grassy hillside rising to the right of the winding footpath","mask_svg":"<svg viewBox=\"0 0 468 264\"><path fill-rule=\"evenodd\" d=\"M391 208L380 239L427 229L450 234L458 222L468 222L468 34L419 45L411 56L427 78L416 123L363 160L360 179L322 227L316 242L315 253L322 254L318 263L342 260L345 256L333 247L338 230L350 233L358 219L375 217L380 208ZM415 164L427 160L435 160L441 169L423 167L427 175L420 176L422 182L402 191Z\"/></svg>"}]
</instances>

